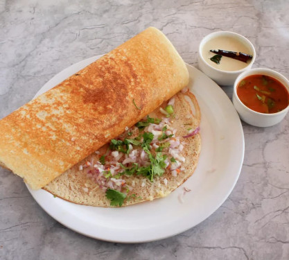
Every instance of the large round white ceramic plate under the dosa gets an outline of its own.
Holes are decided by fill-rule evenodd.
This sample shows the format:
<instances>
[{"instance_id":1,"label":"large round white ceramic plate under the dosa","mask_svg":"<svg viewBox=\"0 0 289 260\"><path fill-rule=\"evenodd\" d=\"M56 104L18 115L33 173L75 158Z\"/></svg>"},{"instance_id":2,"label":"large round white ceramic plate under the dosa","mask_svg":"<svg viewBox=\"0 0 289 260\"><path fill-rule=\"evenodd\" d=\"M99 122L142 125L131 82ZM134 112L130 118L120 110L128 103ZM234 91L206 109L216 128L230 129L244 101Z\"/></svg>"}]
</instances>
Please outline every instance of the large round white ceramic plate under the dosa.
<instances>
[{"instance_id":1,"label":"large round white ceramic plate under the dosa","mask_svg":"<svg viewBox=\"0 0 289 260\"><path fill-rule=\"evenodd\" d=\"M82 60L64 69L36 96L99 57ZM189 180L166 198L123 208L76 205L54 198L42 189L29 189L38 204L55 220L80 234L121 243L174 236L198 225L216 211L231 193L240 174L244 156L243 128L222 89L195 67L187 67L191 77L189 87L198 99L202 113L202 150L198 167ZM184 187L191 191L182 196Z\"/></svg>"}]
</instances>

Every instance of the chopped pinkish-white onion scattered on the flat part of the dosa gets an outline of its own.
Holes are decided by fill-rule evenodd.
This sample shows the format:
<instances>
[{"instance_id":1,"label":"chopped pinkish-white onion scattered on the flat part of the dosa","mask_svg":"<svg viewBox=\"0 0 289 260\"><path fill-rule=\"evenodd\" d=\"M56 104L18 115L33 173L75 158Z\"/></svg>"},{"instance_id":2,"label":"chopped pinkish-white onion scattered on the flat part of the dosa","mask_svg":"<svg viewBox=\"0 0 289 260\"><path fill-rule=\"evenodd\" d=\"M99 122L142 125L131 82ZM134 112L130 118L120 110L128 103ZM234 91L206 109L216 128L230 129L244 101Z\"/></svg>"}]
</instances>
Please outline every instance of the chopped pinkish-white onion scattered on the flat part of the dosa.
<instances>
[{"instance_id":1,"label":"chopped pinkish-white onion scattered on the flat part of the dosa","mask_svg":"<svg viewBox=\"0 0 289 260\"><path fill-rule=\"evenodd\" d=\"M173 105L175 102L172 98L168 105ZM168 115L164 109L162 113ZM146 119L144 119L146 120ZM161 153L166 155L164 158L164 169L166 172L170 173L173 177L176 177L179 173L185 170L182 166L185 162L185 157L182 156L182 150L186 144L184 141L180 141L180 137L175 137L177 129L173 128L171 125L173 121L168 117L163 117L161 121L157 123L149 123L144 129L144 132L151 133L153 139L150 140L150 144L147 144L149 150L152 154ZM194 135L198 132L199 128L196 128L189 135ZM130 128L125 128L126 131L130 131ZM143 142L143 137L138 141ZM94 163L92 158L90 162L85 162L84 165L79 166L80 171L85 169L85 174L87 177L91 178L92 181L96 182L100 189L115 189L116 191L122 191L122 189L132 190L135 187L135 182L132 181L131 186L125 182L124 176L126 175L124 168L128 169L134 167L135 165L139 167L150 166L150 158L148 154L143 150L143 147L138 144L132 145L131 143L127 146L128 150L126 152L121 152L119 150L109 150L105 155L100 156L100 152L96 151L98 155L98 161ZM100 157L105 156L105 164L100 163ZM125 166L125 167L124 167ZM165 185L168 185L168 180L164 178ZM146 180L141 182L141 187L146 186Z\"/></svg>"}]
</instances>

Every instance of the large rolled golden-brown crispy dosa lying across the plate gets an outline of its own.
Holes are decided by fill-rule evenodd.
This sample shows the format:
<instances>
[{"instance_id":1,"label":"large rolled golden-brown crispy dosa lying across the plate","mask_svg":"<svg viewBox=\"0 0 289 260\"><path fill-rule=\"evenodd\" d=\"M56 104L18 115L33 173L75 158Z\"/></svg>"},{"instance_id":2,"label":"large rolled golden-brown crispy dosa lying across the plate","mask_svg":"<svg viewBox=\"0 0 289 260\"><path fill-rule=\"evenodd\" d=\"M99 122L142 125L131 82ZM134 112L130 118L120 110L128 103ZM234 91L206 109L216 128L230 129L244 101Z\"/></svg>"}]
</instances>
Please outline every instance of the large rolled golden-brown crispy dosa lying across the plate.
<instances>
[{"instance_id":1,"label":"large rolled golden-brown crispy dosa lying across the plate","mask_svg":"<svg viewBox=\"0 0 289 260\"><path fill-rule=\"evenodd\" d=\"M173 45L148 28L2 119L0 162L44 187L188 83Z\"/></svg>"}]
</instances>

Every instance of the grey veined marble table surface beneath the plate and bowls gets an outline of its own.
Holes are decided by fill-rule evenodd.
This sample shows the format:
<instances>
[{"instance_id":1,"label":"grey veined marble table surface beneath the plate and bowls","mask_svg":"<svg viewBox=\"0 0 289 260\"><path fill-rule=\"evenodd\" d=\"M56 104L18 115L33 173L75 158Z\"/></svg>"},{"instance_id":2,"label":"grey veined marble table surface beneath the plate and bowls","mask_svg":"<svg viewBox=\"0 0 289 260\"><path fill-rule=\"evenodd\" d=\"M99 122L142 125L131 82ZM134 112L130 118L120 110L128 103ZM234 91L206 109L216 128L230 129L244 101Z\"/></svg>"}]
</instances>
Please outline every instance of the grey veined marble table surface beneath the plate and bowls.
<instances>
[{"instance_id":1,"label":"grey veined marble table surface beneath the plate and bowls","mask_svg":"<svg viewBox=\"0 0 289 260\"><path fill-rule=\"evenodd\" d=\"M288 12L288 0L0 0L0 119L62 69L148 26L163 31L193 66L204 35L240 33L256 48L253 67L289 78ZM222 89L231 97L232 87ZM289 114L270 128L242 125L245 158L229 198L199 225L150 243L77 234L0 168L0 259L289 259Z\"/></svg>"}]
</instances>

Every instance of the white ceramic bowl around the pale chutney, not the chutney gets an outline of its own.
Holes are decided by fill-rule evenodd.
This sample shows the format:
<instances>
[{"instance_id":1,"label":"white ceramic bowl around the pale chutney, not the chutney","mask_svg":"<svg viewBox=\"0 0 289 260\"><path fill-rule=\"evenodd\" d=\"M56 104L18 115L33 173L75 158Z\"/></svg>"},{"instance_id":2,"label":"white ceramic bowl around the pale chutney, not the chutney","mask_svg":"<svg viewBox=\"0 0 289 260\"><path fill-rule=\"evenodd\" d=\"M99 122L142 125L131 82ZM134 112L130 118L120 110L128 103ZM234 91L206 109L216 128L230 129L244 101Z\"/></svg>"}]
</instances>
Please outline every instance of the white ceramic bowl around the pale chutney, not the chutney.
<instances>
[{"instance_id":1,"label":"white ceramic bowl around the pale chutney, not the chutney","mask_svg":"<svg viewBox=\"0 0 289 260\"><path fill-rule=\"evenodd\" d=\"M237 71L223 71L220 69L216 69L213 66L211 66L203 57L202 55L202 49L204 44L207 42L213 40L216 37L233 37L242 44L244 44L249 50L250 53L252 54L253 58L250 62L248 62L247 67L237 70ZM226 51L231 51L231 50L226 50ZM252 64L254 63L256 58L256 51L254 49L253 44L247 40L242 35L239 35L238 33L233 33L233 32L228 32L228 31L220 31L220 32L215 32L215 33L210 33L209 35L205 36L202 41L200 42L199 46L199 52L198 52L198 66L202 72L207 74L212 80L214 80L218 85L233 85L236 78L242 73L243 71L247 69L251 69Z\"/></svg>"}]
</instances>

